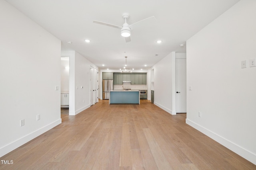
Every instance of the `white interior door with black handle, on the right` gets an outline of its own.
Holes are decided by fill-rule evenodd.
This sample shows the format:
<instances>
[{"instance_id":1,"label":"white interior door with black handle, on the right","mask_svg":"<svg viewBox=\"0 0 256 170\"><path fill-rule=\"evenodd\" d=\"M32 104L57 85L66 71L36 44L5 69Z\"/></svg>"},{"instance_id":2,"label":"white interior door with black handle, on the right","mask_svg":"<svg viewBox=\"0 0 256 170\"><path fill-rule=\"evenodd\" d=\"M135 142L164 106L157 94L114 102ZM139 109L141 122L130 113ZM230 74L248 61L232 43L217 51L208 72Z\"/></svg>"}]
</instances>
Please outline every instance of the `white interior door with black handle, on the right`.
<instances>
[{"instance_id":1,"label":"white interior door with black handle, on the right","mask_svg":"<svg viewBox=\"0 0 256 170\"><path fill-rule=\"evenodd\" d=\"M177 59L175 62L176 86L176 113L187 112L186 92L186 59Z\"/></svg>"}]
</instances>

